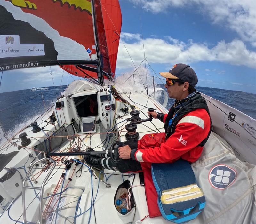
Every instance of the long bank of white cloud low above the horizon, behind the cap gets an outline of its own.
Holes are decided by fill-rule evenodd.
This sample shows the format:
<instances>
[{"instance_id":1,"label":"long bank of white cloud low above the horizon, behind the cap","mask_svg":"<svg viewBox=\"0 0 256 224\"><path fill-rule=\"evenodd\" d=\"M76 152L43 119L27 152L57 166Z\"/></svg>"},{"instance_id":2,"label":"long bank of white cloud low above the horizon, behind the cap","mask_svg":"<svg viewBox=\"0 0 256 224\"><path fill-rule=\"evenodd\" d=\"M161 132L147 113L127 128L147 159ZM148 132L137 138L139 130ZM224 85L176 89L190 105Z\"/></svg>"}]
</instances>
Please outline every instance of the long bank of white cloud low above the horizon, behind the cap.
<instances>
[{"instance_id":1,"label":"long bank of white cloud low above the horizon, behind the cap","mask_svg":"<svg viewBox=\"0 0 256 224\"><path fill-rule=\"evenodd\" d=\"M248 50L241 40L235 39L230 43L223 40L209 48L206 44L193 43L192 40L184 43L172 37L166 37L166 39L172 43L159 38L144 39L145 55L149 63L189 64L199 61L219 61L256 68L256 52ZM144 59L142 39L136 39L129 43L124 41L124 44L132 60L138 66ZM117 68L119 69L129 68L132 65L126 49L120 42L117 57Z\"/></svg>"}]
</instances>

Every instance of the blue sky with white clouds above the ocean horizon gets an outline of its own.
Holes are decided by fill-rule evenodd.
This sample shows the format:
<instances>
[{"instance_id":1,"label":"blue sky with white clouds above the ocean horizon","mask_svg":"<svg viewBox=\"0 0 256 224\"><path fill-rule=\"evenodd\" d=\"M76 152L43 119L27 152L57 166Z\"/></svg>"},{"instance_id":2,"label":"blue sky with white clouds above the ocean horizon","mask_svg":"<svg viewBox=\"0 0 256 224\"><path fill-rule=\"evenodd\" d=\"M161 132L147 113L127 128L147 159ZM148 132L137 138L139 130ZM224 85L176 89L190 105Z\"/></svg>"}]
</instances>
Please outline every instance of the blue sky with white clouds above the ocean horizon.
<instances>
[{"instance_id":1,"label":"blue sky with white clouds above the ocean horizon","mask_svg":"<svg viewBox=\"0 0 256 224\"><path fill-rule=\"evenodd\" d=\"M147 75L159 76L158 72L185 63L195 70L197 86L256 93L255 0L119 3L122 31L116 76L131 74L144 60L145 51L151 66L146 64ZM143 71L140 69L141 75L145 75ZM58 66L5 71L0 92L53 86L53 82L65 85L73 79L77 77L68 76Z\"/></svg>"}]
</instances>

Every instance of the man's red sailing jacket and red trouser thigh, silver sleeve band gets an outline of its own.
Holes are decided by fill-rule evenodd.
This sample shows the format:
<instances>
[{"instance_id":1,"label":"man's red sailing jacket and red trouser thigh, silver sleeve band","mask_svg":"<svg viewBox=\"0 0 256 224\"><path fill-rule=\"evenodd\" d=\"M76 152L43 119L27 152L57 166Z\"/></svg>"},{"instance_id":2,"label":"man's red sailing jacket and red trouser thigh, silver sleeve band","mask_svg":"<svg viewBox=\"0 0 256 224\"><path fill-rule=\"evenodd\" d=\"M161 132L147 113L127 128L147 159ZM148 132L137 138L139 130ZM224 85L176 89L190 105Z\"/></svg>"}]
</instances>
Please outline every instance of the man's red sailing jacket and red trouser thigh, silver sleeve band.
<instances>
[{"instance_id":1,"label":"man's red sailing jacket and red trouser thigh, silver sleeve band","mask_svg":"<svg viewBox=\"0 0 256 224\"><path fill-rule=\"evenodd\" d=\"M153 136L158 142L153 148L146 148L144 141L139 140L138 150L132 150L131 158L143 162L141 163L143 169L150 168L151 163L173 163L180 158L191 163L195 162L203 151L203 145L200 143L207 140L210 134L211 119L208 112L203 108L188 112L177 121L175 131L167 139L163 137L165 133L152 134L151 138ZM167 114L164 115L164 123L166 118ZM157 135L162 135L163 143L161 140L159 142ZM144 137L149 139L149 136Z\"/></svg>"}]
</instances>

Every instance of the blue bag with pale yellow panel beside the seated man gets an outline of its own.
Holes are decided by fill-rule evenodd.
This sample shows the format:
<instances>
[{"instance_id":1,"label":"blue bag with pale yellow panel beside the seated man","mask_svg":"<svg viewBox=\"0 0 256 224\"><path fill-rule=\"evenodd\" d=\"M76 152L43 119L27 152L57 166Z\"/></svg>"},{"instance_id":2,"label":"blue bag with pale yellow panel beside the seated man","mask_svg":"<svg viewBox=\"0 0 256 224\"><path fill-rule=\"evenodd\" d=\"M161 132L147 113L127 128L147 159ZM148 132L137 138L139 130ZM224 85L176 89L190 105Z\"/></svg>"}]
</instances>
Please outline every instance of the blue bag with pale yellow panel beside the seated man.
<instances>
[{"instance_id":1,"label":"blue bag with pale yellow panel beside the seated man","mask_svg":"<svg viewBox=\"0 0 256 224\"><path fill-rule=\"evenodd\" d=\"M184 223L195 219L204 209L204 193L197 186L188 161L179 159L170 164L152 164L151 172L164 219Z\"/></svg>"}]
</instances>

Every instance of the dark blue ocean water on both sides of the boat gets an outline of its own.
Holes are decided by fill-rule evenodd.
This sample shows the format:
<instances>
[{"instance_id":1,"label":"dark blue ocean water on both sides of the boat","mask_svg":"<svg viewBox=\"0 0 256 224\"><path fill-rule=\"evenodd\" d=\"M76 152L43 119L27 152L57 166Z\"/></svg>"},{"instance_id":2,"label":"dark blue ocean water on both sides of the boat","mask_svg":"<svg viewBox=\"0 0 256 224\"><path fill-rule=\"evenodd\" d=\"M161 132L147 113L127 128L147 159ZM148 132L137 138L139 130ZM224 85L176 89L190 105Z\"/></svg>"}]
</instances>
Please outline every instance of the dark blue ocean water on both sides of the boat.
<instances>
[{"instance_id":1,"label":"dark blue ocean water on both sides of the boat","mask_svg":"<svg viewBox=\"0 0 256 224\"><path fill-rule=\"evenodd\" d=\"M56 98L66 87L63 85L0 93L0 121L4 130L13 134L25 125L31 124L45 111L45 108L54 105ZM159 87L165 89L163 84L159 84ZM256 94L208 87L196 89L256 119ZM157 100L163 102L164 97L160 95ZM169 109L173 102L174 99L169 99L166 108ZM4 140L2 133L0 133L0 145L1 140Z\"/></svg>"}]
</instances>

